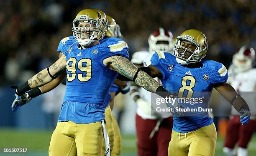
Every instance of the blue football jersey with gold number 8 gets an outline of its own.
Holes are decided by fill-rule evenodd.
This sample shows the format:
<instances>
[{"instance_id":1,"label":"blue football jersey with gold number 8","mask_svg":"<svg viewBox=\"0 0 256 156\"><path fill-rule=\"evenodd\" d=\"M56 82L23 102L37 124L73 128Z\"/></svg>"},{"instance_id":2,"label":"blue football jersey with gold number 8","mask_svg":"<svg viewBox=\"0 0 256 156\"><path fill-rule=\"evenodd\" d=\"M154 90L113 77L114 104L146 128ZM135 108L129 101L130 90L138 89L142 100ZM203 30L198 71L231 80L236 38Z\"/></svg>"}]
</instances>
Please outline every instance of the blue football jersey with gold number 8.
<instances>
[{"instance_id":1,"label":"blue football jersey with gold number 8","mask_svg":"<svg viewBox=\"0 0 256 156\"><path fill-rule=\"evenodd\" d=\"M201 63L203 64L201 68L187 68L180 65L173 54L162 51L155 52L151 57L151 64L163 75L161 82L166 90L176 92L177 97L202 98L202 101L196 104L181 102L184 108L209 108L213 84L223 83L228 79L228 72L223 64L212 60L202 60ZM213 123L208 111L193 113L173 116L173 130L187 133Z\"/></svg>"}]
</instances>

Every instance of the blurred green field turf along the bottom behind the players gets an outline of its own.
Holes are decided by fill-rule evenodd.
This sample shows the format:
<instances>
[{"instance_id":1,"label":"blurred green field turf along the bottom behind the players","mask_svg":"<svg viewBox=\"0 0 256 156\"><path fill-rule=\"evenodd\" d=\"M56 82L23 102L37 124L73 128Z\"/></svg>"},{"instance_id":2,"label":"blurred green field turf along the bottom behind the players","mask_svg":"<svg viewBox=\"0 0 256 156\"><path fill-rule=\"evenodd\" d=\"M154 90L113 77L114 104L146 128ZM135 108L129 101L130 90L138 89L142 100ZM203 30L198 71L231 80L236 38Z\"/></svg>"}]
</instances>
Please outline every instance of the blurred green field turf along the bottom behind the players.
<instances>
[{"instance_id":1,"label":"blurred green field turf along the bottom behind the players","mask_svg":"<svg viewBox=\"0 0 256 156\"><path fill-rule=\"evenodd\" d=\"M47 156L51 131L0 129L0 148L28 148L27 154L4 154L0 156ZM215 156L224 156L223 138L218 137ZM136 136L123 135L121 156L136 156ZM249 156L256 156L256 135L249 144Z\"/></svg>"}]
</instances>

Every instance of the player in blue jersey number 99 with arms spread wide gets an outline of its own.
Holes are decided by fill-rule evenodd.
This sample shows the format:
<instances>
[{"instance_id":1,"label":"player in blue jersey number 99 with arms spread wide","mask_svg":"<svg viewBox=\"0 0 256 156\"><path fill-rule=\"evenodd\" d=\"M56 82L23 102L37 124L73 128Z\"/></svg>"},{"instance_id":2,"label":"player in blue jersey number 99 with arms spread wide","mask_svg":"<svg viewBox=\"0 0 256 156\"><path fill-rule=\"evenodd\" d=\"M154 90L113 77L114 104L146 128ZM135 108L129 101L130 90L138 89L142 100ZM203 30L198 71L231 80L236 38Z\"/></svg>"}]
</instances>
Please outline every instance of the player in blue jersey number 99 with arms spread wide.
<instances>
[{"instance_id":1,"label":"player in blue jersey number 99 with arms spread wide","mask_svg":"<svg viewBox=\"0 0 256 156\"><path fill-rule=\"evenodd\" d=\"M110 38L100 44L105 27L106 23L96 10L80 11L72 27L77 42L71 44L67 40L62 46L63 55L54 64L15 91L14 103L21 103L22 98L26 98L25 92L67 73L66 92L58 124L51 137L49 156L100 156L103 136L106 147L109 147L104 112L110 100L110 86L118 73L161 97L166 97L166 93L172 96L128 60L128 45L123 40ZM74 148L77 153L72 153ZM105 155L110 155L108 148Z\"/></svg>"}]
</instances>

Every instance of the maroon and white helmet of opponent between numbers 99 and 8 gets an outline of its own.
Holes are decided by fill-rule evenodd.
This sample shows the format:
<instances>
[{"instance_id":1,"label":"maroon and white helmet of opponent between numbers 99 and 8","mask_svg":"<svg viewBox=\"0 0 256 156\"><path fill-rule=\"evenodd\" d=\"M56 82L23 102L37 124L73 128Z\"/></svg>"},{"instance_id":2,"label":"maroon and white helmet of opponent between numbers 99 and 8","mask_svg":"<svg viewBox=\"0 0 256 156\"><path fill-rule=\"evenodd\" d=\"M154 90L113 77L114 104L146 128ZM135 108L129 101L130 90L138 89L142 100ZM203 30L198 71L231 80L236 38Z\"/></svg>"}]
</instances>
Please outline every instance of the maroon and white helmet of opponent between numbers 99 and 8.
<instances>
[{"instance_id":1,"label":"maroon and white helmet of opponent between numbers 99 and 8","mask_svg":"<svg viewBox=\"0 0 256 156\"><path fill-rule=\"evenodd\" d=\"M154 54L155 51L171 52L173 47L172 32L159 27L148 37L149 52Z\"/></svg>"}]
</instances>

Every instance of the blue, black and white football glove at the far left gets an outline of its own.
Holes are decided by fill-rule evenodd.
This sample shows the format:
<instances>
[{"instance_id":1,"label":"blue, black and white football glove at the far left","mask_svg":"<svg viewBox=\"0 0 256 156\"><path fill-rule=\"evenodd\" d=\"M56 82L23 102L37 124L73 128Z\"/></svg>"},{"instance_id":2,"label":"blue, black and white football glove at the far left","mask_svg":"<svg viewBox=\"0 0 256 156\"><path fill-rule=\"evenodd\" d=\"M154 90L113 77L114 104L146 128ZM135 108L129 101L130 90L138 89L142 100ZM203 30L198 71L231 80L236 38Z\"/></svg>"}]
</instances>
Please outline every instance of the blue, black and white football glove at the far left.
<instances>
[{"instance_id":1,"label":"blue, black and white football glove at the far left","mask_svg":"<svg viewBox=\"0 0 256 156\"><path fill-rule=\"evenodd\" d=\"M25 93L21 96L18 96L17 94L15 94L15 99L13 101L12 104L12 111L15 112L17 109L19 109L21 106L23 106L24 104L28 103L32 98L29 97L28 93Z\"/></svg>"}]
</instances>

